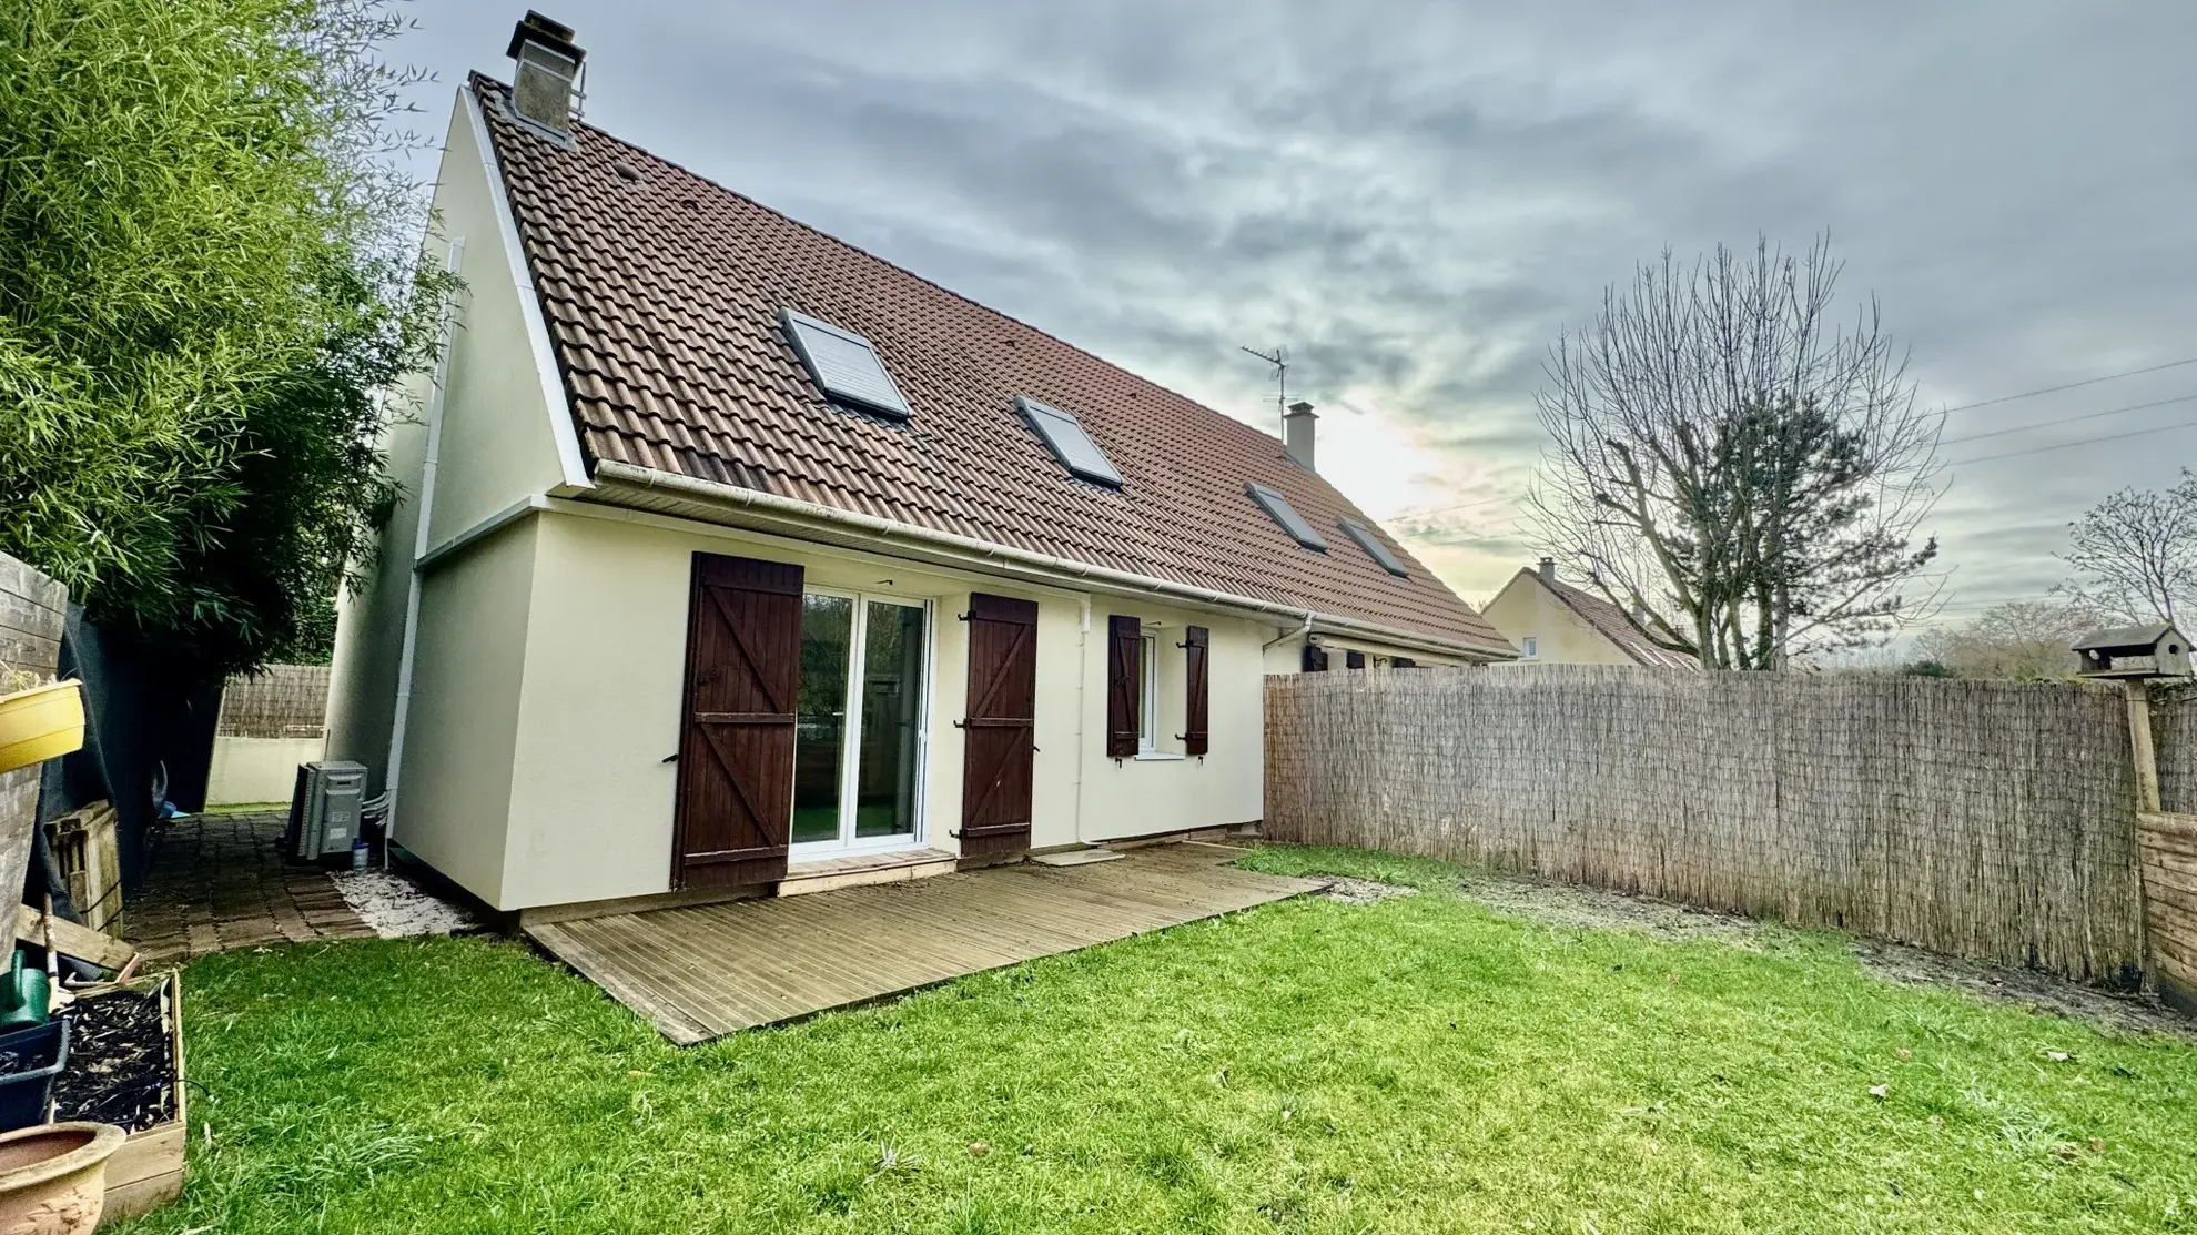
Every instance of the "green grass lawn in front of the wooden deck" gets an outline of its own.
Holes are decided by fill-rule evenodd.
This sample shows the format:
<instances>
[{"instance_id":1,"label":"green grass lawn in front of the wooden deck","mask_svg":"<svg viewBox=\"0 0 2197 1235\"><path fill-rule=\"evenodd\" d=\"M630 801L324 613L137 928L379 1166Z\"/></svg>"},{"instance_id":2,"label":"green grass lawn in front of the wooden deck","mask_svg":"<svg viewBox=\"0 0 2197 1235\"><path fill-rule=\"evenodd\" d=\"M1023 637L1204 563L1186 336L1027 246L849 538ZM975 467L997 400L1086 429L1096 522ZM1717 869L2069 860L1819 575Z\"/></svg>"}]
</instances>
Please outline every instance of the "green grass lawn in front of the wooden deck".
<instances>
[{"instance_id":1,"label":"green grass lawn in front of the wooden deck","mask_svg":"<svg viewBox=\"0 0 2197 1235\"><path fill-rule=\"evenodd\" d=\"M1428 892L692 1050L505 943L198 960L134 1231L2197 1231L2186 1042L1252 861Z\"/></svg>"}]
</instances>

